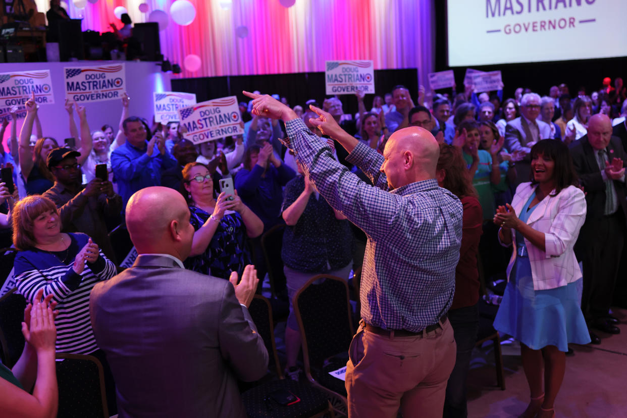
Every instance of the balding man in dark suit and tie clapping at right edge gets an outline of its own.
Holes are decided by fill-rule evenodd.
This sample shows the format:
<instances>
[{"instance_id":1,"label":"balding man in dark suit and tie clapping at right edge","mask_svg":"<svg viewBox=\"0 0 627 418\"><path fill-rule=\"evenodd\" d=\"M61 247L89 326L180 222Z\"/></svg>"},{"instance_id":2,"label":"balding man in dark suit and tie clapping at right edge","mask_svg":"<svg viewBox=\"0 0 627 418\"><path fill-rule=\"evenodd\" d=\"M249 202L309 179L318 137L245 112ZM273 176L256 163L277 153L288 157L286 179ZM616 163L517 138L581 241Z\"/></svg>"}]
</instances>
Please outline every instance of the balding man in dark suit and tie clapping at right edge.
<instances>
[{"instance_id":1,"label":"balding man in dark suit and tie clapping at right edge","mask_svg":"<svg viewBox=\"0 0 627 418\"><path fill-rule=\"evenodd\" d=\"M571 144L572 160L586 192L586 222L575 246L583 262L581 309L592 328L618 334L609 316L614 284L627 231L625 169L627 160L619 138L612 137L606 115L590 118L587 135ZM591 334L593 342L598 337Z\"/></svg>"}]
</instances>

